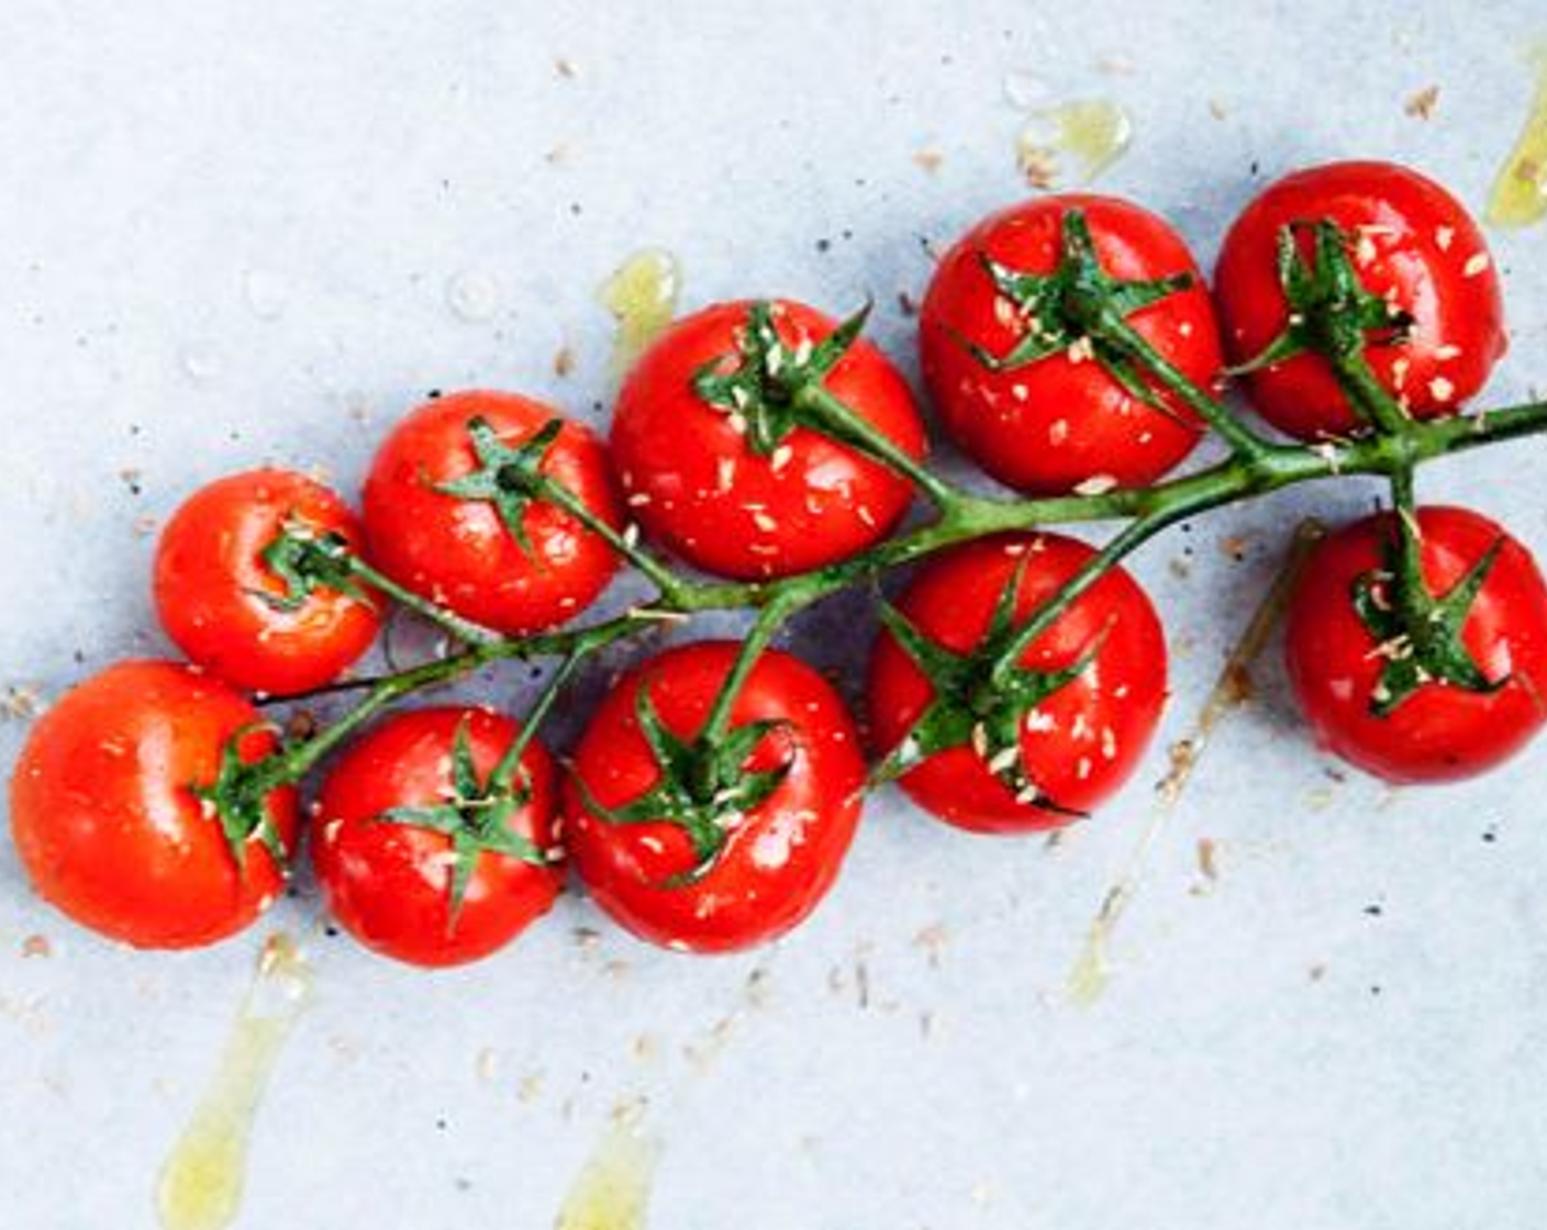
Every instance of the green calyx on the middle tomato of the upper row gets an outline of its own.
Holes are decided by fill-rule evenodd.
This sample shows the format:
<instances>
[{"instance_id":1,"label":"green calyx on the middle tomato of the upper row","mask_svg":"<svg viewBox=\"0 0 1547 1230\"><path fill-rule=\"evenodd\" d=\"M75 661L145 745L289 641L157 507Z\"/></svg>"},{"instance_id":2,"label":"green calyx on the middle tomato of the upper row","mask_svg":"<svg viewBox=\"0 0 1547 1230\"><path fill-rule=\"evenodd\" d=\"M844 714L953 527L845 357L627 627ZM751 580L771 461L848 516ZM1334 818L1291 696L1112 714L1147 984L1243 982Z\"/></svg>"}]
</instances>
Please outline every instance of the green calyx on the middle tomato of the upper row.
<instances>
[{"instance_id":1,"label":"green calyx on the middle tomato of the upper row","mask_svg":"<svg viewBox=\"0 0 1547 1230\"><path fill-rule=\"evenodd\" d=\"M871 305L866 303L821 342L803 340L791 347L780 337L778 308L758 300L747 309L747 320L732 354L713 359L693 376L693 391L707 405L730 416L758 456L772 456L797 427L811 427L840 436L831 415L817 399L801 398L808 388L821 388L838 360L854 345Z\"/></svg>"}]
</instances>

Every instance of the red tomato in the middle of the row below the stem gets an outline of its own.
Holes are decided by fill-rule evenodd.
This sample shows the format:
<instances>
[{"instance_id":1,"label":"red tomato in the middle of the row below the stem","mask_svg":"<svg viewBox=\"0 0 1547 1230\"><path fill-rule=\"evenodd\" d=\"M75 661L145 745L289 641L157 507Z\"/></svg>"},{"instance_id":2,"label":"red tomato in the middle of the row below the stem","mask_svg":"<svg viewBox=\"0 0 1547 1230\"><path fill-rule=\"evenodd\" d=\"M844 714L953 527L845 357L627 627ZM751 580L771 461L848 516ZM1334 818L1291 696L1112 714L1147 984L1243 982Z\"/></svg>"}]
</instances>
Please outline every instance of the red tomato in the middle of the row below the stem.
<instances>
[{"instance_id":1,"label":"red tomato in the middle of the row below the stem","mask_svg":"<svg viewBox=\"0 0 1547 1230\"><path fill-rule=\"evenodd\" d=\"M743 786L761 781L750 795L761 800L735 809L736 784L724 778L705 783L713 797L693 800L724 837L705 871L695 876L699 856L679 825L654 814L610 823L596 812L659 798L673 784L640 724L640 690L667 736L692 741L738 650L705 641L628 671L591 718L565 789L565 840L591 896L630 931L670 948L730 952L787 931L831 888L860 815L865 761L843 701L775 650L753 665L730 712L732 736L746 743L739 729L755 741L729 767L752 775ZM775 726L758 736L756 723Z\"/></svg>"}]
</instances>

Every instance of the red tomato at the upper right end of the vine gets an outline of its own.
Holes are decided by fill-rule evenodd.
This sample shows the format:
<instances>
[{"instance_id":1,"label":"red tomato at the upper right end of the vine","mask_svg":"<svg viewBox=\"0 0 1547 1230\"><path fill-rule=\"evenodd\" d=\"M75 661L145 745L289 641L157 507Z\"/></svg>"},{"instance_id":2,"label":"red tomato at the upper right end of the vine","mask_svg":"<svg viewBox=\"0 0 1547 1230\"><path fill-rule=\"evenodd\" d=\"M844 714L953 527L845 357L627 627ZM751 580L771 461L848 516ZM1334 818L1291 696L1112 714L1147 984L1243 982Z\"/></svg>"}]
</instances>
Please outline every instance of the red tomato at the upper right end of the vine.
<instances>
[{"instance_id":1,"label":"red tomato at the upper right end of the vine","mask_svg":"<svg viewBox=\"0 0 1547 1230\"><path fill-rule=\"evenodd\" d=\"M1295 172L1247 206L1214 271L1231 360L1256 357L1284 331L1279 229L1318 220L1343 229L1364 289L1411 319L1405 342L1394 342L1391 330L1368 334L1364 354L1377 379L1414 418L1456 413L1507 348L1499 277L1465 207L1433 179L1391 162ZM1309 257L1312 237L1299 240ZM1363 425L1320 354L1253 371L1247 390L1262 418L1301 439L1346 436Z\"/></svg>"}]
</instances>

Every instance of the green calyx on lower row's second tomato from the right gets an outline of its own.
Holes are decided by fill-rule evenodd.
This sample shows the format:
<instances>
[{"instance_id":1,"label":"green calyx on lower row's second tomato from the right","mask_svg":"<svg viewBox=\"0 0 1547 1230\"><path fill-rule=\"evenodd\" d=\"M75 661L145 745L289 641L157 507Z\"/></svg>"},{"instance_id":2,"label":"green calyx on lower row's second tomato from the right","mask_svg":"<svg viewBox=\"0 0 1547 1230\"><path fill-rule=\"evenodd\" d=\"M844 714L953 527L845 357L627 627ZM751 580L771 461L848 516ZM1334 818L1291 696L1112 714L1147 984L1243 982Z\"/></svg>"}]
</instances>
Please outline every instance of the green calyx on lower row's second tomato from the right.
<instances>
[{"instance_id":1,"label":"green calyx on lower row's second tomato from the right","mask_svg":"<svg viewBox=\"0 0 1547 1230\"><path fill-rule=\"evenodd\" d=\"M880 603L882 624L928 676L934 695L897 747L877 766L873 780L890 781L950 747L970 747L1015 795L1016 803L1038 806L1057 815L1083 815L1060 806L1036 784L1021 753L1021 732L1036 706L1091 667L1106 639L1106 630L1067 667L1006 668L1006 653L1016 639L1015 600L1024 574L1026 560L1021 560L995 603L987 633L968 653L945 648L914 627L896 606Z\"/></svg>"}]
</instances>

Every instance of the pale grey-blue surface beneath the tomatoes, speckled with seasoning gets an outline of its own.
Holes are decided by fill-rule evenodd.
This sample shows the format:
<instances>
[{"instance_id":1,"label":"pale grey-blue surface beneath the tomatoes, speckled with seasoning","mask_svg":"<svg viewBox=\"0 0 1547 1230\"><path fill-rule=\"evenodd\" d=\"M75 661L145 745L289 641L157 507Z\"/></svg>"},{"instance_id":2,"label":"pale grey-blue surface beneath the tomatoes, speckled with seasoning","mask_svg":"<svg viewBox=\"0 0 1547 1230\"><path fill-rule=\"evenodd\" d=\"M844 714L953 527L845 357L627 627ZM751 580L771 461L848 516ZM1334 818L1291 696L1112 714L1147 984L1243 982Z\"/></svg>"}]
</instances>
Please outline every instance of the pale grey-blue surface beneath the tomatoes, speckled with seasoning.
<instances>
[{"instance_id":1,"label":"pale grey-blue surface beneath the tomatoes, speckled with seasoning","mask_svg":"<svg viewBox=\"0 0 1547 1230\"><path fill-rule=\"evenodd\" d=\"M644 241L681 257L688 305L874 294L911 367L894 303L927 277L920 237L1023 192L1006 73L1049 101L1120 99L1135 141L1105 186L1207 261L1253 169L1392 156L1479 204L1525 105L1533 12L1547 28L1527 0L365 8L5 0L0 684L56 693L161 650L133 523L209 477L322 464L350 489L432 387L593 413L610 333L593 291ZM1431 84L1433 118L1406 114ZM920 150L944 155L936 175ZM1547 234L1494 243L1515 333L1501 404L1547 374ZM449 305L469 271L498 286L489 320ZM1532 446L1425 478L1538 552L1542 486ZM1292 492L1149 551L1176 701L1123 800L1058 851L967 839L888 795L812 924L753 956L645 948L579 897L441 976L317 941L319 1001L263 1108L241 1224L546 1227L634 1094L665 1148L657 1230L1547 1224L1544 746L1457 789L1337 784L1273 665L1157 849L1112 989L1063 999L1279 535L1372 495ZM1244 563L1217 546L1235 534ZM1168 568L1183 546L1187 580ZM0 723L0 763L22 736ZM1196 894L1199 835L1221 879ZM0 1225L155 1224L156 1168L252 952L311 913L283 902L215 950L133 955L34 902L0 849ZM937 961L916 942L930 928ZM32 933L53 956L20 955Z\"/></svg>"}]
</instances>

